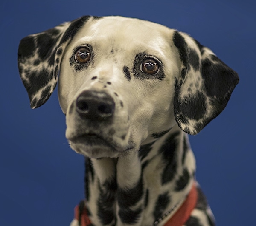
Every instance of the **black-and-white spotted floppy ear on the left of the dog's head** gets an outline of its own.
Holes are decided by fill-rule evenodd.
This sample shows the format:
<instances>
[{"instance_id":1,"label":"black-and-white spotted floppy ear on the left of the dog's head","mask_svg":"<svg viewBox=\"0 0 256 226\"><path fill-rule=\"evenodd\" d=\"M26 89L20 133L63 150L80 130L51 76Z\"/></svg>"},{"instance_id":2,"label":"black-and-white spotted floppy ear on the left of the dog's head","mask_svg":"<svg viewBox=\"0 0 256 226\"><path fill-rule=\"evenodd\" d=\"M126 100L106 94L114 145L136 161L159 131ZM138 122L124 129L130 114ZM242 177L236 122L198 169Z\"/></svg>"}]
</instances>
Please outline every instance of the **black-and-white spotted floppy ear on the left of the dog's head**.
<instances>
[{"instance_id":1,"label":"black-and-white spotted floppy ear on the left of the dog's head","mask_svg":"<svg viewBox=\"0 0 256 226\"><path fill-rule=\"evenodd\" d=\"M51 96L57 84L64 49L89 18L80 17L20 41L18 67L29 94L30 107L40 107Z\"/></svg>"}]
</instances>

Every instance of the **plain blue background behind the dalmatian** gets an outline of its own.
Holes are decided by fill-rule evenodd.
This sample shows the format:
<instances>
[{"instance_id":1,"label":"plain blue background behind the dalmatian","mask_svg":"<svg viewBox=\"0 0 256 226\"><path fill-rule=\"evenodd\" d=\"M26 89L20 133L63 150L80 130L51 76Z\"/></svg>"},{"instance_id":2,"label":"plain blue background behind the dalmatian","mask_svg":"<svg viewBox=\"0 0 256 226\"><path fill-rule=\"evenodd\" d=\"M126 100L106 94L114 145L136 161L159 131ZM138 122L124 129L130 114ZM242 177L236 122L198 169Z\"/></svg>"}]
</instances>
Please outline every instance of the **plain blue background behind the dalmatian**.
<instances>
[{"instance_id":1,"label":"plain blue background behind the dalmatian","mask_svg":"<svg viewBox=\"0 0 256 226\"><path fill-rule=\"evenodd\" d=\"M0 226L65 226L84 198L84 158L70 149L57 90L31 110L17 69L21 38L82 15L151 20L191 34L239 73L226 109L190 136L197 179L218 226L255 225L255 1L0 3Z\"/></svg>"}]
</instances>

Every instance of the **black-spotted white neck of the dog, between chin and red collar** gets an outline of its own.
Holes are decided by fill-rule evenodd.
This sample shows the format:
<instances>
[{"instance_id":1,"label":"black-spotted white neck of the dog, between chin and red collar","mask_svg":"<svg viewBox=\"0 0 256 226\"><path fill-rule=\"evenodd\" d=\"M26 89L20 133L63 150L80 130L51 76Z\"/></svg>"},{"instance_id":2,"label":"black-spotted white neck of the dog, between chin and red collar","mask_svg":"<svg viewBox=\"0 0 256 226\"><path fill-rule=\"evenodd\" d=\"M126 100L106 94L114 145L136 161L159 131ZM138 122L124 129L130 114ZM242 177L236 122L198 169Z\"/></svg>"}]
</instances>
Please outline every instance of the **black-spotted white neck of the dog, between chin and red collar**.
<instances>
[{"instance_id":1,"label":"black-spotted white neck of the dog, between chin and red collar","mask_svg":"<svg viewBox=\"0 0 256 226\"><path fill-rule=\"evenodd\" d=\"M94 225L153 225L184 201L195 175L188 136L174 127L154 137L119 158L86 157L86 205Z\"/></svg>"}]
</instances>

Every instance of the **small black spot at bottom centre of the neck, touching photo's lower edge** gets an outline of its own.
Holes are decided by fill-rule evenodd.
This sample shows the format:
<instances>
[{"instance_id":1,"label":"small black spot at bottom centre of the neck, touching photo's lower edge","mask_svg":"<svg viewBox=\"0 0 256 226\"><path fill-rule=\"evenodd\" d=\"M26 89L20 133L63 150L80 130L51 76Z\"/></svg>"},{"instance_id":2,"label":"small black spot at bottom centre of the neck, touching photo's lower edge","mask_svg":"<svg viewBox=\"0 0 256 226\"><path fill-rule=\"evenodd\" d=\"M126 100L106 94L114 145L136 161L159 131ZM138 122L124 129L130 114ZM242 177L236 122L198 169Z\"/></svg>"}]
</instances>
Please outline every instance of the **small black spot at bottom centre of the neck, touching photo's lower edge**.
<instances>
[{"instance_id":1,"label":"small black spot at bottom centre of the neck, touching photo's lower edge","mask_svg":"<svg viewBox=\"0 0 256 226\"><path fill-rule=\"evenodd\" d=\"M135 224L140 218L140 214L142 212L142 208L139 207L135 210L131 209L119 209L119 217L123 223L126 224Z\"/></svg>"}]
</instances>

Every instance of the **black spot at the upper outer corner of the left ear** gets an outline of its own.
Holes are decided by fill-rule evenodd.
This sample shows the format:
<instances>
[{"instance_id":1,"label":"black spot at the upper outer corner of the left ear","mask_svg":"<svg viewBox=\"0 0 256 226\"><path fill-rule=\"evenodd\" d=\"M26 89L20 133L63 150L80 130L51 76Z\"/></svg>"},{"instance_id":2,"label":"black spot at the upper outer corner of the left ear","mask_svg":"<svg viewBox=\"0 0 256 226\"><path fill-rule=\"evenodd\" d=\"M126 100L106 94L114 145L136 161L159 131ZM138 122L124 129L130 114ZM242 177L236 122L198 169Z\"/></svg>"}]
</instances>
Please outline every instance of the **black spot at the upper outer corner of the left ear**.
<instances>
[{"instance_id":1,"label":"black spot at the upper outer corner of the left ear","mask_svg":"<svg viewBox=\"0 0 256 226\"><path fill-rule=\"evenodd\" d=\"M25 37L20 41L18 56L19 61L23 61L24 58L30 57L35 53L35 37Z\"/></svg>"}]
</instances>

